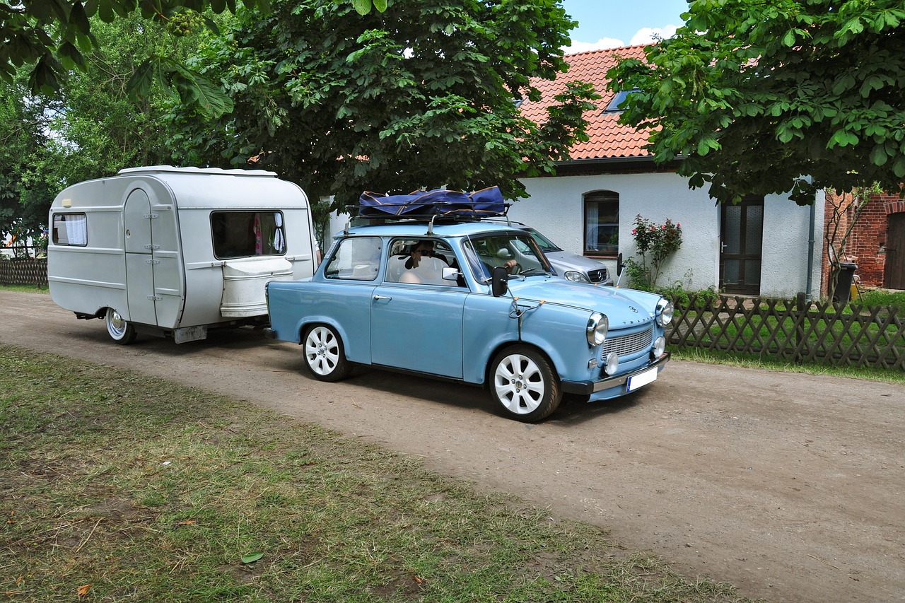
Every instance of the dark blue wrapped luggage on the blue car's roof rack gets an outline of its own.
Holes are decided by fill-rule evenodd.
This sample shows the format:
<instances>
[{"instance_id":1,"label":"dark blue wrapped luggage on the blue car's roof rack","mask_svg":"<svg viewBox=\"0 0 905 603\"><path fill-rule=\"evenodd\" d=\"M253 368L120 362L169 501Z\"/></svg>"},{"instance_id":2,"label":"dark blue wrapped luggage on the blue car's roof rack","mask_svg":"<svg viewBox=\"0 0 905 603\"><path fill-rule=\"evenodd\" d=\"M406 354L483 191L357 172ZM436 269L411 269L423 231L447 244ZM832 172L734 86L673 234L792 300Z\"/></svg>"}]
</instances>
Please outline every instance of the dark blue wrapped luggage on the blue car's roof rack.
<instances>
[{"instance_id":1,"label":"dark blue wrapped luggage on the blue car's roof rack","mask_svg":"<svg viewBox=\"0 0 905 603\"><path fill-rule=\"evenodd\" d=\"M505 216L511 204L503 201L499 187L471 194L461 191L418 190L408 195L379 195L365 191L358 198L357 217L370 220L473 220Z\"/></svg>"}]
</instances>

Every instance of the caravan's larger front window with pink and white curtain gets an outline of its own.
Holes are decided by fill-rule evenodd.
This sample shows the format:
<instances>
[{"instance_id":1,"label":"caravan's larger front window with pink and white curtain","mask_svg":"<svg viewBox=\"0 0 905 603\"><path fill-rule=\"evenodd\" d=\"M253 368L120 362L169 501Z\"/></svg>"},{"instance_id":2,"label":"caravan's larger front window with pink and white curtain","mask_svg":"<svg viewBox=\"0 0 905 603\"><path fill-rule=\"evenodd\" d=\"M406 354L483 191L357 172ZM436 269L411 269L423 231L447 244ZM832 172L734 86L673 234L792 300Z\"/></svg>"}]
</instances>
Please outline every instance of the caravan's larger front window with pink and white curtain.
<instances>
[{"instance_id":1,"label":"caravan's larger front window with pink and white curtain","mask_svg":"<svg viewBox=\"0 0 905 603\"><path fill-rule=\"evenodd\" d=\"M219 259L286 253L282 212L212 212L211 232Z\"/></svg>"}]
</instances>

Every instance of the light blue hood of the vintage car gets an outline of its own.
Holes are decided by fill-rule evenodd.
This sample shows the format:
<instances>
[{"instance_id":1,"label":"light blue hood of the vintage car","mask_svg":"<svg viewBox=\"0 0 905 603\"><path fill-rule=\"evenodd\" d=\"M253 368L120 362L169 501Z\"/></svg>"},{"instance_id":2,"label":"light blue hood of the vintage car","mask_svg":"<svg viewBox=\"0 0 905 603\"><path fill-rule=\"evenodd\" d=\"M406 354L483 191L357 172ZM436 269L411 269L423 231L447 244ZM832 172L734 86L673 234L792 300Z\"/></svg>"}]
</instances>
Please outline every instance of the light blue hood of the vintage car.
<instances>
[{"instance_id":1,"label":"light blue hood of the vintage car","mask_svg":"<svg viewBox=\"0 0 905 603\"><path fill-rule=\"evenodd\" d=\"M557 303L606 314L611 328L627 327L653 318L661 296L634 289L571 282L557 276L510 279L510 294L519 302Z\"/></svg>"}]
</instances>

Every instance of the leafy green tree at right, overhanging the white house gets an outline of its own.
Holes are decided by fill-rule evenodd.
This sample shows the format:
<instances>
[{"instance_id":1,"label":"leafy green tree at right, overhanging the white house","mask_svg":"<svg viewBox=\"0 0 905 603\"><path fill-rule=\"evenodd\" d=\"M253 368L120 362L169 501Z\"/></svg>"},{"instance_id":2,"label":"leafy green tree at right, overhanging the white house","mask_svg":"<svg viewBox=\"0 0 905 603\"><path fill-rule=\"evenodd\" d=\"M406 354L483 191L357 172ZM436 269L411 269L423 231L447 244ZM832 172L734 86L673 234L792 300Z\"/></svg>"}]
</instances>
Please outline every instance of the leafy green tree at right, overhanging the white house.
<instances>
[{"instance_id":1,"label":"leafy green tree at right, overhanging the white house","mask_svg":"<svg viewBox=\"0 0 905 603\"><path fill-rule=\"evenodd\" d=\"M608 73L635 90L624 123L652 131L710 196L789 192L905 178L905 7L900 0L693 0L675 37Z\"/></svg>"}]
</instances>

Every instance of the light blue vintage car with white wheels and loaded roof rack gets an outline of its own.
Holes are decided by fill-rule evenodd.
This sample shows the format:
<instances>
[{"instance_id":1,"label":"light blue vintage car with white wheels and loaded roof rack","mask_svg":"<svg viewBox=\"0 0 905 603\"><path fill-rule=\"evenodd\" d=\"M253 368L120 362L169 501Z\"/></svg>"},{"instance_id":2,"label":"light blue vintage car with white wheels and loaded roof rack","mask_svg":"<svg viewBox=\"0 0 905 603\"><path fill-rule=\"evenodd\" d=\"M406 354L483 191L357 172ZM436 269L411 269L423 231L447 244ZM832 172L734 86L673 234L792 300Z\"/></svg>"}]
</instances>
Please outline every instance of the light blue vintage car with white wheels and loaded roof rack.
<instances>
[{"instance_id":1,"label":"light blue vintage car with white wheels and loaded roof rack","mask_svg":"<svg viewBox=\"0 0 905 603\"><path fill-rule=\"evenodd\" d=\"M395 208L424 197L433 203ZM265 335L300 343L314 378L367 365L475 384L530 422L564 394L642 388L669 360L671 302L556 276L528 233L481 221L505 211L499 191L368 199L376 209L363 214L382 224L338 234L313 276L267 285Z\"/></svg>"}]
</instances>

